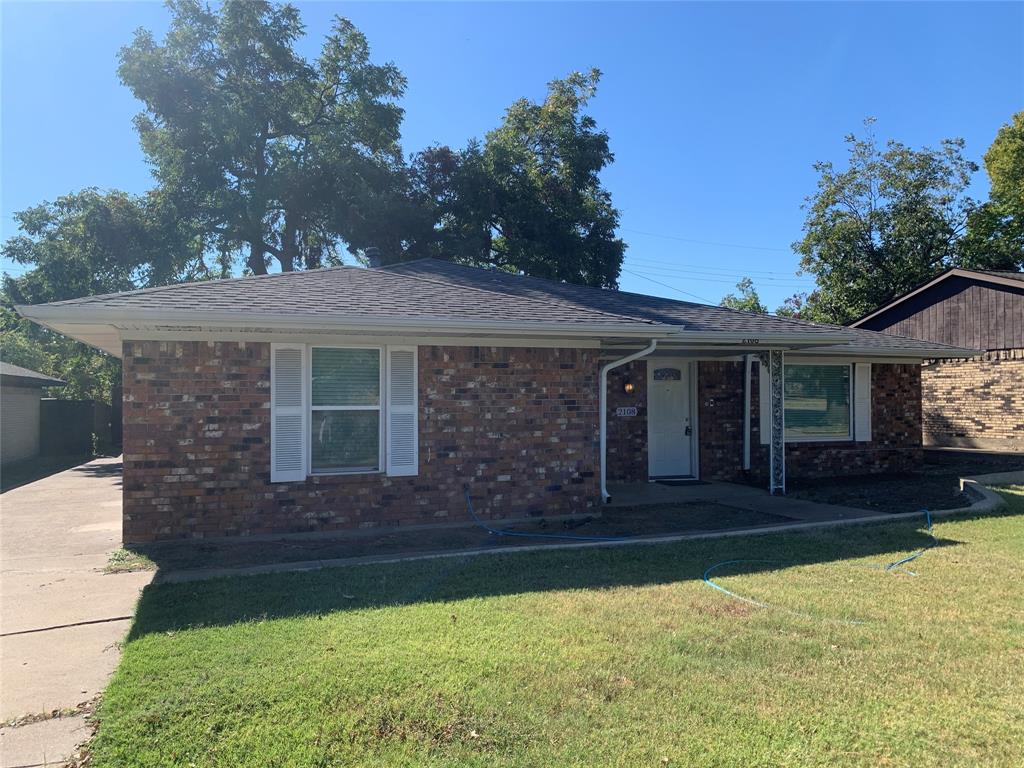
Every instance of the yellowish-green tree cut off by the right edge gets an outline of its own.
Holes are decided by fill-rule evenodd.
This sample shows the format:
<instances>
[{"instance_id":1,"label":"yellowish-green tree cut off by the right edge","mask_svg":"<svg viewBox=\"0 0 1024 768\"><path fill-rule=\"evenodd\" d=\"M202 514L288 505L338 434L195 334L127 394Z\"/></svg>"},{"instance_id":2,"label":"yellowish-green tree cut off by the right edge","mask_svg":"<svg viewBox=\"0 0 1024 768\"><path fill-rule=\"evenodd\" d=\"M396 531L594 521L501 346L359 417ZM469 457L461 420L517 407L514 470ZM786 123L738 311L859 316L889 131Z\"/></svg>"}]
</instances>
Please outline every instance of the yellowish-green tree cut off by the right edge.
<instances>
[{"instance_id":1,"label":"yellowish-green tree cut off by the right edge","mask_svg":"<svg viewBox=\"0 0 1024 768\"><path fill-rule=\"evenodd\" d=\"M1024 270L1024 112L999 129L984 160L989 200L971 212L961 262Z\"/></svg>"}]
</instances>

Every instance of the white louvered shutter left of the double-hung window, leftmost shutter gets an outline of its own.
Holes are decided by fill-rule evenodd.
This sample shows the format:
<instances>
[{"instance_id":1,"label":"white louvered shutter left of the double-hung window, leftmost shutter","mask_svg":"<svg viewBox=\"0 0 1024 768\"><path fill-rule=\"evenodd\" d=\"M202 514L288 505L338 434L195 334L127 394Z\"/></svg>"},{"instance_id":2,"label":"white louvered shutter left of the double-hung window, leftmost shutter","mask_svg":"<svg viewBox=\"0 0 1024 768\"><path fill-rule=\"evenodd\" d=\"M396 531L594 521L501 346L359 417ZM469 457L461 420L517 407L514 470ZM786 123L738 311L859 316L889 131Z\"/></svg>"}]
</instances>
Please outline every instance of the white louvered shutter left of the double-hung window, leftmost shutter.
<instances>
[{"instance_id":1,"label":"white louvered shutter left of the double-hung window, leftmost shutter","mask_svg":"<svg viewBox=\"0 0 1024 768\"><path fill-rule=\"evenodd\" d=\"M306 479L306 348L270 345L270 482Z\"/></svg>"}]
</instances>

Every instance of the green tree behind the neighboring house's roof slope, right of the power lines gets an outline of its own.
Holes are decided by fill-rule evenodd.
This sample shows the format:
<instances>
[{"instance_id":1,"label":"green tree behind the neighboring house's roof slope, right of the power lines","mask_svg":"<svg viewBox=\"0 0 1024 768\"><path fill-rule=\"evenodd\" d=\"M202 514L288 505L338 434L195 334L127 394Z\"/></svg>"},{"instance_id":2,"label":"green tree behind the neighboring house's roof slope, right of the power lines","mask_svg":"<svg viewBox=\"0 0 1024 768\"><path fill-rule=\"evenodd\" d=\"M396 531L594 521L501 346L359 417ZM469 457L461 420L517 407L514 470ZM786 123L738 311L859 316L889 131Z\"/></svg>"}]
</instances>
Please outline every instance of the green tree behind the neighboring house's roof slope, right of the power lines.
<instances>
[{"instance_id":1,"label":"green tree behind the neighboring house's roof slope, right of the power lines","mask_svg":"<svg viewBox=\"0 0 1024 768\"><path fill-rule=\"evenodd\" d=\"M965 190L977 166L963 139L912 150L846 138L849 161L816 163L817 191L807 199L804 237L794 244L801 269L814 274L807 319L846 324L956 263L973 202Z\"/></svg>"}]
</instances>

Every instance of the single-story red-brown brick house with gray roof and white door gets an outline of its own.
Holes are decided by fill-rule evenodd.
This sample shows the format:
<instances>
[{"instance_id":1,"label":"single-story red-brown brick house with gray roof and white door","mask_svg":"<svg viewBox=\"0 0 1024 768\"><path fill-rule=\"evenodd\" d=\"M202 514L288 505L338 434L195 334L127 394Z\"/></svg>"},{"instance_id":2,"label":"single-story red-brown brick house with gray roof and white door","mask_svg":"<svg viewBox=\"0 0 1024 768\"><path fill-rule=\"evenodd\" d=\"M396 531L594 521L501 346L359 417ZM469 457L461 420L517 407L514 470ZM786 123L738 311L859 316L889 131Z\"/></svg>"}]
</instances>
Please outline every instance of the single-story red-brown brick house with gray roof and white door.
<instances>
[{"instance_id":1,"label":"single-story red-brown brick house with gray roof and white door","mask_svg":"<svg viewBox=\"0 0 1024 768\"><path fill-rule=\"evenodd\" d=\"M18 310L122 358L136 543L466 521L466 487L521 518L897 471L921 360L970 353L430 259Z\"/></svg>"}]
</instances>

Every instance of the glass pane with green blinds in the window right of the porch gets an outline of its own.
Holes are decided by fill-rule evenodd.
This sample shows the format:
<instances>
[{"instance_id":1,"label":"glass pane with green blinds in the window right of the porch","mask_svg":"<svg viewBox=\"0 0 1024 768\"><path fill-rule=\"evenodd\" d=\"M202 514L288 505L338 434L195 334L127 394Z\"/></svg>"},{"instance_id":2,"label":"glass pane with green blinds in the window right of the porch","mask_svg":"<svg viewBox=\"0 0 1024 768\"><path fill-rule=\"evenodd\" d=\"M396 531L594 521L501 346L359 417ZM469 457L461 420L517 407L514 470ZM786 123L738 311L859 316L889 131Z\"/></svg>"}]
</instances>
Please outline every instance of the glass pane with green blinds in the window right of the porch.
<instances>
[{"instance_id":1,"label":"glass pane with green blinds in the window right of the porch","mask_svg":"<svg viewBox=\"0 0 1024 768\"><path fill-rule=\"evenodd\" d=\"M785 367L785 436L850 434L850 367Z\"/></svg>"}]
</instances>

